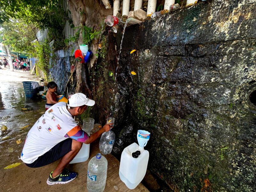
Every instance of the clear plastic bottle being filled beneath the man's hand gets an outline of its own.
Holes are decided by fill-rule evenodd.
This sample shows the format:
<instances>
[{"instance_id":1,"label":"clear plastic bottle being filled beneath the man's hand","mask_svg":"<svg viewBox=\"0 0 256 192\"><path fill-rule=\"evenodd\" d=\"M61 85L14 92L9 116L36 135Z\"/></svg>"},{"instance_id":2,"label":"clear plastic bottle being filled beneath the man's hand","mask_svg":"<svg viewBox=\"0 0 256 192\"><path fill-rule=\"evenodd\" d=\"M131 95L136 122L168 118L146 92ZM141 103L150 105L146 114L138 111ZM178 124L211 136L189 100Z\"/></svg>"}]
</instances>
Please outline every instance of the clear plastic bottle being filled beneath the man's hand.
<instances>
[{"instance_id":1,"label":"clear plastic bottle being filled beneath the man's hand","mask_svg":"<svg viewBox=\"0 0 256 192\"><path fill-rule=\"evenodd\" d=\"M111 153L113 145L115 143L115 133L111 130L104 132L100 138L100 152L104 155Z\"/></svg>"}]
</instances>

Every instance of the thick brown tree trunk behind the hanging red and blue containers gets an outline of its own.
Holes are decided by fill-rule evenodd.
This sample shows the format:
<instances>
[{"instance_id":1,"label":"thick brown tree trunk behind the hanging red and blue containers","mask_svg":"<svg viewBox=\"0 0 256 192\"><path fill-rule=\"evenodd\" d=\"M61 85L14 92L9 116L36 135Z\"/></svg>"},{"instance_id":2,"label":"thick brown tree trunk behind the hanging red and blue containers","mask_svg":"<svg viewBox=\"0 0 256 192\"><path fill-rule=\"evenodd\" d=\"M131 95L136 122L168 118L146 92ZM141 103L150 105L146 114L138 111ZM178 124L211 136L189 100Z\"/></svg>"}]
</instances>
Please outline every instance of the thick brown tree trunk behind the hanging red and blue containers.
<instances>
[{"instance_id":1,"label":"thick brown tree trunk behind the hanging red and blue containers","mask_svg":"<svg viewBox=\"0 0 256 192\"><path fill-rule=\"evenodd\" d=\"M105 9L103 4L100 4L100 0L68 0L68 7L71 12L71 17L75 27L79 25L85 25L93 28L93 30L100 30L102 26L100 23L104 17L113 14L113 9ZM95 54L98 48L99 40L92 41L89 45L89 49ZM83 44L82 36L80 34L78 44ZM78 44L76 49L79 49ZM76 92L82 92L92 99L92 90L90 88L89 69L96 62L96 57L93 56L89 65L78 63L76 65ZM88 68L89 66L89 68Z\"/></svg>"}]
</instances>

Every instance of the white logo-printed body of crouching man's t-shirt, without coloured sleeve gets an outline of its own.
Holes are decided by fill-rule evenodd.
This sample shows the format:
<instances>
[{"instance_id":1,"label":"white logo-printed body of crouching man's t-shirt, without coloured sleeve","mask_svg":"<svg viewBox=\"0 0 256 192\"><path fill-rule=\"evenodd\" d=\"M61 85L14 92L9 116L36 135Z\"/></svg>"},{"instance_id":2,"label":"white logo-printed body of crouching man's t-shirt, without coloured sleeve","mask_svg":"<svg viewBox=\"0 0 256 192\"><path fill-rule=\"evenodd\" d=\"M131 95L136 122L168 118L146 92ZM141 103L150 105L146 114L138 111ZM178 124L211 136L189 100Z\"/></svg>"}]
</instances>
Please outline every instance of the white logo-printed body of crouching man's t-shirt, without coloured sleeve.
<instances>
[{"instance_id":1,"label":"white logo-printed body of crouching man's t-shirt, without coloured sleeve","mask_svg":"<svg viewBox=\"0 0 256 192\"><path fill-rule=\"evenodd\" d=\"M67 132L77 126L68 112L65 102L59 102L49 108L29 130L21 160L31 164L61 141Z\"/></svg>"}]
</instances>

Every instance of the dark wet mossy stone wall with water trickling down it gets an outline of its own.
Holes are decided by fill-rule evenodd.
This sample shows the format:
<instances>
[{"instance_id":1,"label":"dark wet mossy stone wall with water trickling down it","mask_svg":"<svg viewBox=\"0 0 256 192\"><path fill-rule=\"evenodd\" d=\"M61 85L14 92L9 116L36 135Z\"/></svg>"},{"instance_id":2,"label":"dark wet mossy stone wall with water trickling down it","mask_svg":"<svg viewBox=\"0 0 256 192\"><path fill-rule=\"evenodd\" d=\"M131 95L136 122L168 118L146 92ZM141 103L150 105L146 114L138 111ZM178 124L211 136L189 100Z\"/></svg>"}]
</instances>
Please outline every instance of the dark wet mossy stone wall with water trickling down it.
<instances>
[{"instance_id":1,"label":"dark wet mossy stone wall with water trickling down it","mask_svg":"<svg viewBox=\"0 0 256 192\"><path fill-rule=\"evenodd\" d=\"M173 190L255 191L255 11L206 1L129 26L118 64L122 36L106 33L92 116L116 118L112 152L147 130L148 169Z\"/></svg>"}]
</instances>

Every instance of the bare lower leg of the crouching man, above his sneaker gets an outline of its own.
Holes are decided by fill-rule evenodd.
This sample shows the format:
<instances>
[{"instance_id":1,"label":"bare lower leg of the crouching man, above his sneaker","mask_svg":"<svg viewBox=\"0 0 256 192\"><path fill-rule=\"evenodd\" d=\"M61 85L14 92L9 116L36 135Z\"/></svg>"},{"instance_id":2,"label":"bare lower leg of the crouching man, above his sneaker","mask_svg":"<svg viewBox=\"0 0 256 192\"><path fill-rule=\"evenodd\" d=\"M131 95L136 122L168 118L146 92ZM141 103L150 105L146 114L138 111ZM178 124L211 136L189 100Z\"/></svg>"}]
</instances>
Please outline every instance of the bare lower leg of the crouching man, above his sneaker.
<instances>
[{"instance_id":1,"label":"bare lower leg of the crouching man, above his sneaker","mask_svg":"<svg viewBox=\"0 0 256 192\"><path fill-rule=\"evenodd\" d=\"M76 140L72 140L71 151L69 151L66 155L64 155L55 170L52 173L52 177L56 177L59 175L63 169L69 164L70 161L76 156L79 150L82 148L83 143L78 142Z\"/></svg>"}]
</instances>

